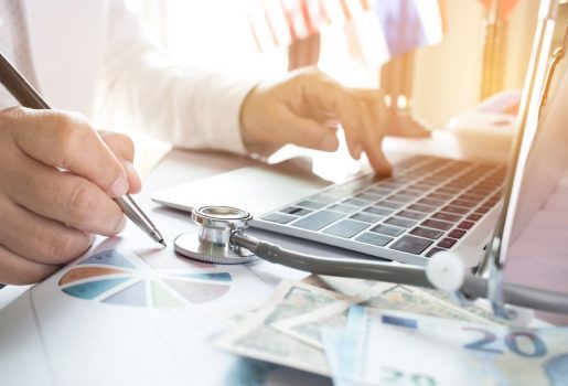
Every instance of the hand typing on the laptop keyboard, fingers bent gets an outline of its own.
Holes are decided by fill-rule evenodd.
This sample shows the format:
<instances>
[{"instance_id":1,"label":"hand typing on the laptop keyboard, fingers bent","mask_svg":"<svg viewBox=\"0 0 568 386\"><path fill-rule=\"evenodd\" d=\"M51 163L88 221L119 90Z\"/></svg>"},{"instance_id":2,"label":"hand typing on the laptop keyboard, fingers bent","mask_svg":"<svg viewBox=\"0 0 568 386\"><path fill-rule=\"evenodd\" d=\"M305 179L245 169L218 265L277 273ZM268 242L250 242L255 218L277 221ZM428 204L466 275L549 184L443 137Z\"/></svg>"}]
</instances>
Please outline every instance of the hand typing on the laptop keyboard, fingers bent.
<instances>
[{"instance_id":1,"label":"hand typing on the laptop keyboard, fingers bent","mask_svg":"<svg viewBox=\"0 0 568 386\"><path fill-rule=\"evenodd\" d=\"M392 171L381 147L385 135L428 136L411 120L392 120L381 92L345 88L314 68L260 83L246 97L240 110L243 138L253 147L293 143L335 151L336 127L341 124L351 156L360 159L365 151L379 174Z\"/></svg>"}]
</instances>

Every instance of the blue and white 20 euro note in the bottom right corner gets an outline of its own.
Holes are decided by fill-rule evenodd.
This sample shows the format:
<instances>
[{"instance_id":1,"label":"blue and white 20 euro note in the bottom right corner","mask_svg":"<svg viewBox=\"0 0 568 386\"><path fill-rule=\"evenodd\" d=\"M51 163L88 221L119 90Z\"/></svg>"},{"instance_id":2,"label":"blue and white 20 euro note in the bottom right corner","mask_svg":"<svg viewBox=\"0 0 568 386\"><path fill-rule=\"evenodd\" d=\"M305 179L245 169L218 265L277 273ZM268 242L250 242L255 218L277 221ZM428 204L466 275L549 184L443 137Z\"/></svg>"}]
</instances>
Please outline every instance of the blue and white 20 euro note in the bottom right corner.
<instances>
[{"instance_id":1,"label":"blue and white 20 euro note in the bottom right corner","mask_svg":"<svg viewBox=\"0 0 568 386\"><path fill-rule=\"evenodd\" d=\"M568 329L512 330L355 307L353 384L568 385Z\"/></svg>"}]
</instances>

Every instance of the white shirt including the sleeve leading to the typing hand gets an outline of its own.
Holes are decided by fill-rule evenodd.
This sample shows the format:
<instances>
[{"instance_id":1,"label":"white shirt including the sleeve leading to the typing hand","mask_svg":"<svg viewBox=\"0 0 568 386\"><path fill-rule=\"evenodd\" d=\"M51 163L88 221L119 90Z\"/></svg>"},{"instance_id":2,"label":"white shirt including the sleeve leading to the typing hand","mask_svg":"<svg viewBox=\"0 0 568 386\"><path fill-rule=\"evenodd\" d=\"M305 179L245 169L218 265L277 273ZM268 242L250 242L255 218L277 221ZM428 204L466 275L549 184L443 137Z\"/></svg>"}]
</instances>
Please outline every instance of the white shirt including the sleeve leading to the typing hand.
<instances>
[{"instance_id":1,"label":"white shirt including the sleeve leading to the typing hand","mask_svg":"<svg viewBox=\"0 0 568 386\"><path fill-rule=\"evenodd\" d=\"M128 116L128 127L174 146L246 152L239 112L255 76L173 63L144 37L120 0L0 1L21 3L32 83L53 108L93 118L95 107L106 105L110 116ZM21 40L3 13L4 8L11 41ZM8 51L15 49L12 43Z\"/></svg>"}]
</instances>

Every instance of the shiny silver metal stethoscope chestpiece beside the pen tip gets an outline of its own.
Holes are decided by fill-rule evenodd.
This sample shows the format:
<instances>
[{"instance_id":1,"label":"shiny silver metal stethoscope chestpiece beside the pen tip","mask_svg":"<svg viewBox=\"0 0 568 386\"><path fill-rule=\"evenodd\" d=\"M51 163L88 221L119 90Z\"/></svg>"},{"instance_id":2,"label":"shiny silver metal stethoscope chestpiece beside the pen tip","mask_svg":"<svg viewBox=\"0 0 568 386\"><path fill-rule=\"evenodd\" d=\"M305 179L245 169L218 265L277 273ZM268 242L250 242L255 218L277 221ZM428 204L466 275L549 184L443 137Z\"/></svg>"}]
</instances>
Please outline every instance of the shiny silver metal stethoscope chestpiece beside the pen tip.
<instances>
[{"instance_id":1,"label":"shiny silver metal stethoscope chestpiece beside the pen tip","mask_svg":"<svg viewBox=\"0 0 568 386\"><path fill-rule=\"evenodd\" d=\"M244 230L253 216L247 211L232 206L202 206L194 208L191 218L200 226L175 238L175 251L200 261L214 264L244 264L257 257L231 244L234 232Z\"/></svg>"}]
</instances>

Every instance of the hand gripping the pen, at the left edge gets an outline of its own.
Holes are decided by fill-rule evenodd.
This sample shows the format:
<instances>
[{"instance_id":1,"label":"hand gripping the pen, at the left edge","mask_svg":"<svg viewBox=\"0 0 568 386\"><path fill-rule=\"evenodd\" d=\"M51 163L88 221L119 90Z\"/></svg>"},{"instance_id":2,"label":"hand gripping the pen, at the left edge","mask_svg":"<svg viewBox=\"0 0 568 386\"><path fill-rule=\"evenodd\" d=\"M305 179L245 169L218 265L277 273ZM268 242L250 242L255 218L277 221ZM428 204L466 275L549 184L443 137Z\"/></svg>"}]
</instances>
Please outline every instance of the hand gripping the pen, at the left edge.
<instances>
[{"instance_id":1,"label":"hand gripping the pen, at the left edge","mask_svg":"<svg viewBox=\"0 0 568 386\"><path fill-rule=\"evenodd\" d=\"M0 282L32 283L125 224L111 197L140 190L128 137L79 115L0 111Z\"/></svg>"}]
</instances>

